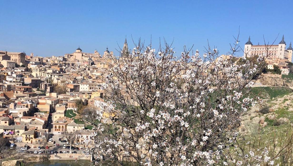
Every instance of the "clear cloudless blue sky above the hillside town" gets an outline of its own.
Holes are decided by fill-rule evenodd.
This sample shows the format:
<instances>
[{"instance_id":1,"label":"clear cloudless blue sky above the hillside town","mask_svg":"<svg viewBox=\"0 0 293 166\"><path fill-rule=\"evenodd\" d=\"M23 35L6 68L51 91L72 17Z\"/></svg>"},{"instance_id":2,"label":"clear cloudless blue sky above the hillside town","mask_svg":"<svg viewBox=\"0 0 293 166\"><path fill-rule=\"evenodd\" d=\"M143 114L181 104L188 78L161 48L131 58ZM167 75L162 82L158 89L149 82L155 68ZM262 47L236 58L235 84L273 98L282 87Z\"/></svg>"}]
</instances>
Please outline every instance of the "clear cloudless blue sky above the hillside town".
<instances>
[{"instance_id":1,"label":"clear cloudless blue sky above the hillside town","mask_svg":"<svg viewBox=\"0 0 293 166\"><path fill-rule=\"evenodd\" d=\"M131 35L157 48L163 37L180 53L183 46L203 53L207 39L222 54L240 26L240 45L272 42L280 33L293 41L293 1L4 1L0 0L0 50L61 56L78 46L103 53ZM242 53L240 54L242 55Z\"/></svg>"}]
</instances>

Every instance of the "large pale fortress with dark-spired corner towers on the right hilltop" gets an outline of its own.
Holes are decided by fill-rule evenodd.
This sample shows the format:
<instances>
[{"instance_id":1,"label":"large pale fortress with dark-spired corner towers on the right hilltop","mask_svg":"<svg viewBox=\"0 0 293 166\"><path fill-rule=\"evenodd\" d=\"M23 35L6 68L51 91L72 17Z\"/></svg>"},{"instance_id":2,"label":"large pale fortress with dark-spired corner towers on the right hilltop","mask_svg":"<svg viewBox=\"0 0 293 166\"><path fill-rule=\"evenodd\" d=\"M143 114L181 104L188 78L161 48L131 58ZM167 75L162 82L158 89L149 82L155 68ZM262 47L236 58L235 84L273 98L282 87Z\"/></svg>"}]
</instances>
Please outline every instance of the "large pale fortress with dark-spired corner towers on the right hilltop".
<instances>
[{"instance_id":1,"label":"large pale fortress with dark-spired corner towers on the right hilltop","mask_svg":"<svg viewBox=\"0 0 293 166\"><path fill-rule=\"evenodd\" d=\"M250 36L248 41L244 45L244 55L253 56L260 55L263 52L266 52L266 46L269 47L268 54L271 59L283 59L285 61L292 61L292 47L291 42L289 47L286 49L286 42L284 41L284 35L282 40L278 45L253 45L250 41Z\"/></svg>"}]
</instances>

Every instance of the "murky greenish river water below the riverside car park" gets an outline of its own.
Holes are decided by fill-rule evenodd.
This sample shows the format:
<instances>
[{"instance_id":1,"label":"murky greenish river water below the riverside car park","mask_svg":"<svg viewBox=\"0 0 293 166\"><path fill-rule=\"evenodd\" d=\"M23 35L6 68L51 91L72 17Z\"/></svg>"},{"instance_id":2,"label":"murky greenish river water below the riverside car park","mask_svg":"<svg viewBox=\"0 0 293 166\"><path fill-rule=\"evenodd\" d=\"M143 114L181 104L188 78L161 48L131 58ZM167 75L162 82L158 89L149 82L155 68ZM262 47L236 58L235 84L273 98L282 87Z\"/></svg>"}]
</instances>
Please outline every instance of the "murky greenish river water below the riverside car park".
<instances>
[{"instance_id":1,"label":"murky greenish river water below the riverside car park","mask_svg":"<svg viewBox=\"0 0 293 166\"><path fill-rule=\"evenodd\" d=\"M47 160L44 162L31 162L25 166L88 166L90 164L89 160Z\"/></svg>"}]
</instances>

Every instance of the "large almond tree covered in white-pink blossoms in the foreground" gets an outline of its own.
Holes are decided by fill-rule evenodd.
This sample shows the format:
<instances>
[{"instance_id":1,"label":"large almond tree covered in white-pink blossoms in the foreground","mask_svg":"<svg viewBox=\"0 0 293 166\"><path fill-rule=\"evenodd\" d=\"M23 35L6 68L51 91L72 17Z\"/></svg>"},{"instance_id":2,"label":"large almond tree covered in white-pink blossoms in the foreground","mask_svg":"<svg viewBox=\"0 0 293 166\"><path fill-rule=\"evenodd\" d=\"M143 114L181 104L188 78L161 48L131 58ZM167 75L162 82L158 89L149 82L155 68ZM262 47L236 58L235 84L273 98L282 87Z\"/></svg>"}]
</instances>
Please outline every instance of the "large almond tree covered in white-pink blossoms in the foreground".
<instances>
[{"instance_id":1,"label":"large almond tree covered in white-pink blossoms in the foreground","mask_svg":"<svg viewBox=\"0 0 293 166\"><path fill-rule=\"evenodd\" d=\"M217 49L184 49L180 57L165 43L156 51L139 42L110 69L105 89L115 115L91 136L96 162L111 165L214 165L226 162L240 117L258 97L249 96L267 54L233 57Z\"/></svg>"}]
</instances>

